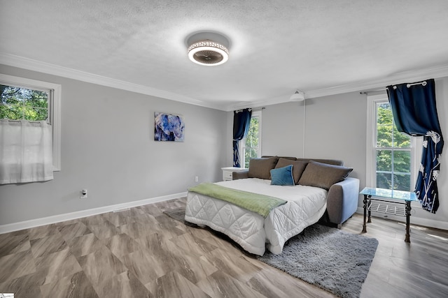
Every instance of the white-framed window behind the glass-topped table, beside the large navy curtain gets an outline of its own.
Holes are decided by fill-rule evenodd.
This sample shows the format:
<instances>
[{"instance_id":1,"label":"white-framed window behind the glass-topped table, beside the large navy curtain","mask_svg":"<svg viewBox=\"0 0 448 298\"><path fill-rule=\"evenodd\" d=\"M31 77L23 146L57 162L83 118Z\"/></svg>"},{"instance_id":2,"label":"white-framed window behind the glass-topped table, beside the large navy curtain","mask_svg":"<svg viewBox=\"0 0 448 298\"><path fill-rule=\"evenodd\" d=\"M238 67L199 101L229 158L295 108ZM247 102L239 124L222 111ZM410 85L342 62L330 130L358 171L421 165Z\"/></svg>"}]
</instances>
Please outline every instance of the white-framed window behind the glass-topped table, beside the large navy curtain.
<instances>
[{"instance_id":1,"label":"white-framed window behind the glass-topped table, beside the large navy curtain","mask_svg":"<svg viewBox=\"0 0 448 298\"><path fill-rule=\"evenodd\" d=\"M413 191L421 137L410 137L397 130L386 94L367 96L367 103L367 184Z\"/></svg>"}]
</instances>

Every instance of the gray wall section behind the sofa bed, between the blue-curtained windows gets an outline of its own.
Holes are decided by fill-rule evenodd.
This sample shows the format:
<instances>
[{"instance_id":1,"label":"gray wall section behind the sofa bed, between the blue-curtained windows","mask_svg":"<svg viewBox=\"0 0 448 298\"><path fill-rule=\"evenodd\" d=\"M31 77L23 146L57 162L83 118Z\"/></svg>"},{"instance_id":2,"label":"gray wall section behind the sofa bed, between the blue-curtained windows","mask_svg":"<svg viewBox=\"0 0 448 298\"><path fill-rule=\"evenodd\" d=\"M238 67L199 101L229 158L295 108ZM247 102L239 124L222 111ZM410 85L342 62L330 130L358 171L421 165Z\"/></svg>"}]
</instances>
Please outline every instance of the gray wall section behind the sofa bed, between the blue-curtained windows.
<instances>
[{"instance_id":1,"label":"gray wall section behind the sofa bed, between the blue-curtained windows","mask_svg":"<svg viewBox=\"0 0 448 298\"><path fill-rule=\"evenodd\" d=\"M303 156L304 109L304 157L342 159L354 168L351 176L365 184L367 101L359 92L267 105L262 110L262 155ZM231 142L233 112L228 112L228 121ZM227 161L231 165L232 151Z\"/></svg>"}]
</instances>

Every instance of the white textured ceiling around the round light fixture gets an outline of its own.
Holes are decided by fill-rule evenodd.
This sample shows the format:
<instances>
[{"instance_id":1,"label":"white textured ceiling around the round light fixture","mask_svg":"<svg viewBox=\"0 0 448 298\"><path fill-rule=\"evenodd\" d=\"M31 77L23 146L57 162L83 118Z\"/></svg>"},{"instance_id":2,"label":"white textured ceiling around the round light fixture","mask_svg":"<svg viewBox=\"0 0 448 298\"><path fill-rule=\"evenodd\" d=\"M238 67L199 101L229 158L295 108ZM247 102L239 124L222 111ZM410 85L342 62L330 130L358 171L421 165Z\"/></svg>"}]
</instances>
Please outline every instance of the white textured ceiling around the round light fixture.
<instances>
[{"instance_id":1,"label":"white textured ceiling around the round light fixture","mask_svg":"<svg viewBox=\"0 0 448 298\"><path fill-rule=\"evenodd\" d=\"M287 101L295 89L311 96L448 69L446 0L0 0L0 7L0 63L79 70L223 110ZM188 60L186 39L198 31L228 36L226 64Z\"/></svg>"}]
</instances>

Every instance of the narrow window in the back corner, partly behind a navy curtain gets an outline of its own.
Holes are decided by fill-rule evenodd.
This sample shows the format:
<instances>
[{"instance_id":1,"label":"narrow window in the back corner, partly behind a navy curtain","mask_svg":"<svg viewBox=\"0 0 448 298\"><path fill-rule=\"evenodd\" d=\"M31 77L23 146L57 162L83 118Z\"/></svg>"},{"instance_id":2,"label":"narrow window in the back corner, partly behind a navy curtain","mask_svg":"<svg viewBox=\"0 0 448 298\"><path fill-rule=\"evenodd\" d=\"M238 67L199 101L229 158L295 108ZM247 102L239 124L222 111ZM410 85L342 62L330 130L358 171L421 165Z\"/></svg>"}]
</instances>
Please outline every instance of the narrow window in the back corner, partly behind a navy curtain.
<instances>
[{"instance_id":1,"label":"narrow window in the back corner, partly behind a navy curtain","mask_svg":"<svg viewBox=\"0 0 448 298\"><path fill-rule=\"evenodd\" d=\"M249 167L249 161L251 158L260 157L261 155L261 111L253 111L251 117L251 126L249 131L240 141L239 146L240 153L244 159L239 161L241 166L246 169ZM242 159L242 158L241 158Z\"/></svg>"}]
</instances>

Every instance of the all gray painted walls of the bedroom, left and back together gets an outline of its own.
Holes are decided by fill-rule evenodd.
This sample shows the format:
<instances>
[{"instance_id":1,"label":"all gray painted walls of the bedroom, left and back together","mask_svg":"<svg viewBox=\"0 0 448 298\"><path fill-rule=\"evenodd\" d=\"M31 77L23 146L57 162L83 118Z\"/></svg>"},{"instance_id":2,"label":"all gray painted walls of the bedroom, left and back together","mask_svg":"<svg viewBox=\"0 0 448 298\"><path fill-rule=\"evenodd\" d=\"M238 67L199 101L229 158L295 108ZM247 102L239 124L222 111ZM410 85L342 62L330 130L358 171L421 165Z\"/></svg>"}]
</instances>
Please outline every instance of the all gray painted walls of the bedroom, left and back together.
<instances>
[{"instance_id":1,"label":"all gray painted walls of the bedroom, left and back together","mask_svg":"<svg viewBox=\"0 0 448 298\"><path fill-rule=\"evenodd\" d=\"M232 112L8 66L0 70L62 84L62 170L53 181L0 186L0 225L183 193L196 175L218 181L221 167L232 165ZM447 94L448 77L436 80L445 139ZM302 156L303 109L303 103L282 103L262 111L262 154ZM183 114L186 141L154 142L154 112ZM307 99L304 156L344 160L363 188L366 114L367 98L358 92ZM437 178L439 211L414 209L413 216L428 225L448 226L447 150ZM78 198L82 188L89 191L87 200Z\"/></svg>"}]
</instances>

